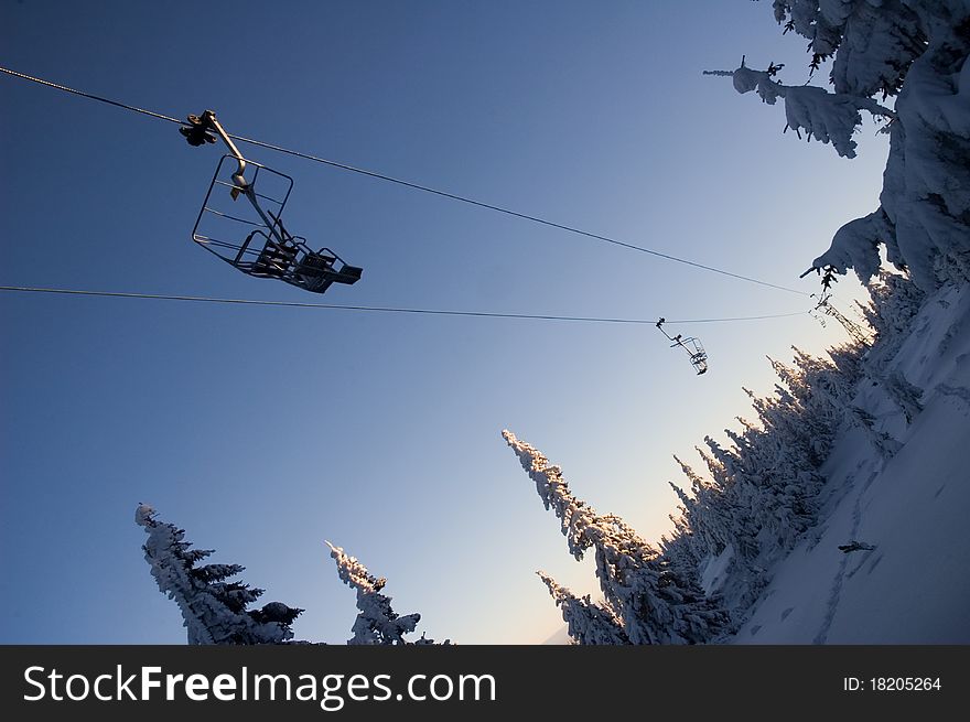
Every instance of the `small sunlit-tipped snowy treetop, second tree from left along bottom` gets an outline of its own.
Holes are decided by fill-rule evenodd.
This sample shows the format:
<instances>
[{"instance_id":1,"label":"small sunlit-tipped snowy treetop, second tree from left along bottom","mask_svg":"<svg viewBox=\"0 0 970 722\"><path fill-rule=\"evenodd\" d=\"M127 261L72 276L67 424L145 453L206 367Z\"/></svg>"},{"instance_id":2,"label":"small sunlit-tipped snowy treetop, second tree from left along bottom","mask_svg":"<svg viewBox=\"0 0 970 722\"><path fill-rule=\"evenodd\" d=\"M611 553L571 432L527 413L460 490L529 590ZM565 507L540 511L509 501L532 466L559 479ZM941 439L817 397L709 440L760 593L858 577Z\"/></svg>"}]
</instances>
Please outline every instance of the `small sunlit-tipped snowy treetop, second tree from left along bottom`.
<instances>
[{"instance_id":1,"label":"small sunlit-tipped snowy treetop, second tree from left along bottom","mask_svg":"<svg viewBox=\"0 0 970 722\"><path fill-rule=\"evenodd\" d=\"M433 639L428 639L424 635L413 643L406 640L405 635L414 631L421 615L399 615L391 607L390 597L380 592L387 583L386 579L371 574L355 557L344 553L341 547L334 547L328 541L326 546L337 564L341 581L357 592L357 608L360 612L351 628L354 636L347 640L348 645L434 644ZM446 639L442 644L451 643Z\"/></svg>"}]
</instances>

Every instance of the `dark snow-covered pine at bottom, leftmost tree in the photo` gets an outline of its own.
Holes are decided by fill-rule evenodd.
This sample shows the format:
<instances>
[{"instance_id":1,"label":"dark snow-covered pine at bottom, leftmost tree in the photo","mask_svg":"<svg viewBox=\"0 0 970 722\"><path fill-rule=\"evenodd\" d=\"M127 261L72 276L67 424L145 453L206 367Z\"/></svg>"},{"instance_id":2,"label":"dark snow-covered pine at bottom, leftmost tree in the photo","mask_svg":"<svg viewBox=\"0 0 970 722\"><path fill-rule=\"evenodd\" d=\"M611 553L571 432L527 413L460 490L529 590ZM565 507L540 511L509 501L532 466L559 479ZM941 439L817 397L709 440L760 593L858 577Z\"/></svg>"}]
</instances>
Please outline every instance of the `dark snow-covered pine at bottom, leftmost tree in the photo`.
<instances>
[{"instance_id":1,"label":"dark snow-covered pine at bottom, leftmost tree in the photo","mask_svg":"<svg viewBox=\"0 0 970 722\"><path fill-rule=\"evenodd\" d=\"M184 529L155 517L155 510L146 504L139 504L134 511L136 522L148 534L142 546L144 559L159 589L182 611L188 644L279 644L293 637L291 625L303 610L282 602L247 610L263 590L226 581L245 568L200 565L212 550L190 549Z\"/></svg>"}]
</instances>

